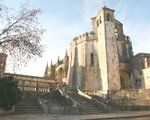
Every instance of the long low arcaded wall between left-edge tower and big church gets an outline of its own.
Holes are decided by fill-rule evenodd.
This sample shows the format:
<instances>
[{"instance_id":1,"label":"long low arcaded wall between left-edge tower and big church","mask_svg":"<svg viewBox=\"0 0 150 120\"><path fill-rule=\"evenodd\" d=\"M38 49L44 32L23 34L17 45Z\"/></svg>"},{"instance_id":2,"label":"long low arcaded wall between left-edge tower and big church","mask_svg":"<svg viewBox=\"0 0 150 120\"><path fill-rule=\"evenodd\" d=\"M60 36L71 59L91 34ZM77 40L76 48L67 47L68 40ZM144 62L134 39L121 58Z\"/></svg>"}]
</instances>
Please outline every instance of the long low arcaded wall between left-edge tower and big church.
<instances>
[{"instance_id":1,"label":"long low arcaded wall between left-edge tower and big church","mask_svg":"<svg viewBox=\"0 0 150 120\"><path fill-rule=\"evenodd\" d=\"M5 73L5 76L13 76L18 81L18 88L22 91L49 92L57 87L57 81L43 77L10 73Z\"/></svg>"}]
</instances>

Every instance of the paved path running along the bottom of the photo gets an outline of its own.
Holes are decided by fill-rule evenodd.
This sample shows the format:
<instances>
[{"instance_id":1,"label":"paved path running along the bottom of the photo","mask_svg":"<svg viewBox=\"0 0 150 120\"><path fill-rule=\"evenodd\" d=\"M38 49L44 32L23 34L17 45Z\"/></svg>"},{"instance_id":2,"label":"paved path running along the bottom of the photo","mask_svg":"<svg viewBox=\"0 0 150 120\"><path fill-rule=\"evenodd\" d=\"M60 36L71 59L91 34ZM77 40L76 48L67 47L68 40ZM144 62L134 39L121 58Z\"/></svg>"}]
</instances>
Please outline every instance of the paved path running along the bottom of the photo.
<instances>
[{"instance_id":1,"label":"paved path running along the bottom of the photo","mask_svg":"<svg viewBox=\"0 0 150 120\"><path fill-rule=\"evenodd\" d=\"M122 112L101 115L25 114L0 116L0 120L150 120L150 111Z\"/></svg>"}]
</instances>

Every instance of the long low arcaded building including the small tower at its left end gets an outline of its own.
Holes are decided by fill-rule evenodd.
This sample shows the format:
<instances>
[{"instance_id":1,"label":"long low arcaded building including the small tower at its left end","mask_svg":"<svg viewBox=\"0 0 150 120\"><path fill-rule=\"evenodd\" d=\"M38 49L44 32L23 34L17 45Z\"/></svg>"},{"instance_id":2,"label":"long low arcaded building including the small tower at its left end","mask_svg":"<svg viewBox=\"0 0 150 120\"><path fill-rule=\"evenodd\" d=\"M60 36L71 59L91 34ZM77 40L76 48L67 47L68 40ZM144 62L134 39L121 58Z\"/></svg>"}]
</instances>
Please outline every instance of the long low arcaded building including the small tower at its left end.
<instances>
[{"instance_id":1,"label":"long low arcaded building including the small tower at its left end","mask_svg":"<svg viewBox=\"0 0 150 120\"><path fill-rule=\"evenodd\" d=\"M6 73L6 59L7 55L0 53L0 77L13 76L14 79L18 81L18 88L20 90L32 92L49 92L50 90L56 89L58 83L54 79Z\"/></svg>"}]
</instances>

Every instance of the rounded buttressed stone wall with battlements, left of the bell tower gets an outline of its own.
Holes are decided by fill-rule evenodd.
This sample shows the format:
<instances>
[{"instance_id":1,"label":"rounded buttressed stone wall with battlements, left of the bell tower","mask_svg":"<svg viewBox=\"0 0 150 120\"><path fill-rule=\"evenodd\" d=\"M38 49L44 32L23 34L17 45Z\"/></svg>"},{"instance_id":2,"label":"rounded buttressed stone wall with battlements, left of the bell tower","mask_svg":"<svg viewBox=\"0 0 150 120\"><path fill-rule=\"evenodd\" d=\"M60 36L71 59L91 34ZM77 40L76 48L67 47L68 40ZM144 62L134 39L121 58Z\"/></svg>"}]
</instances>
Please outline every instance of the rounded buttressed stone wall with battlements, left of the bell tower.
<instances>
[{"instance_id":1,"label":"rounded buttressed stone wall with battlements, left of the bell tower","mask_svg":"<svg viewBox=\"0 0 150 120\"><path fill-rule=\"evenodd\" d=\"M68 73L72 89L99 90L97 41L94 36L76 38L71 44Z\"/></svg>"}]
</instances>

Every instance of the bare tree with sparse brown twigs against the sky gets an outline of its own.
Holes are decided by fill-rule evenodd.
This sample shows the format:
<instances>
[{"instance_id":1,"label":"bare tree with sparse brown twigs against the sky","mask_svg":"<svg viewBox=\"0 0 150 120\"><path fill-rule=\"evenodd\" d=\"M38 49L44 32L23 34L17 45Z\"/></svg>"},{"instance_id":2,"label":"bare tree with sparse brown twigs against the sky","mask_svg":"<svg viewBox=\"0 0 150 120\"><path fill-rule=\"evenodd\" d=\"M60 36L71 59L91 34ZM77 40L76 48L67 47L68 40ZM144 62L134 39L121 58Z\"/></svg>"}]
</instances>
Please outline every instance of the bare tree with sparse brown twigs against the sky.
<instances>
[{"instance_id":1,"label":"bare tree with sparse brown twigs against the sky","mask_svg":"<svg viewBox=\"0 0 150 120\"><path fill-rule=\"evenodd\" d=\"M39 9L29 9L27 5L16 12L0 3L0 50L11 56L12 63L26 64L42 56L44 29L38 22L39 14Z\"/></svg>"}]
</instances>

